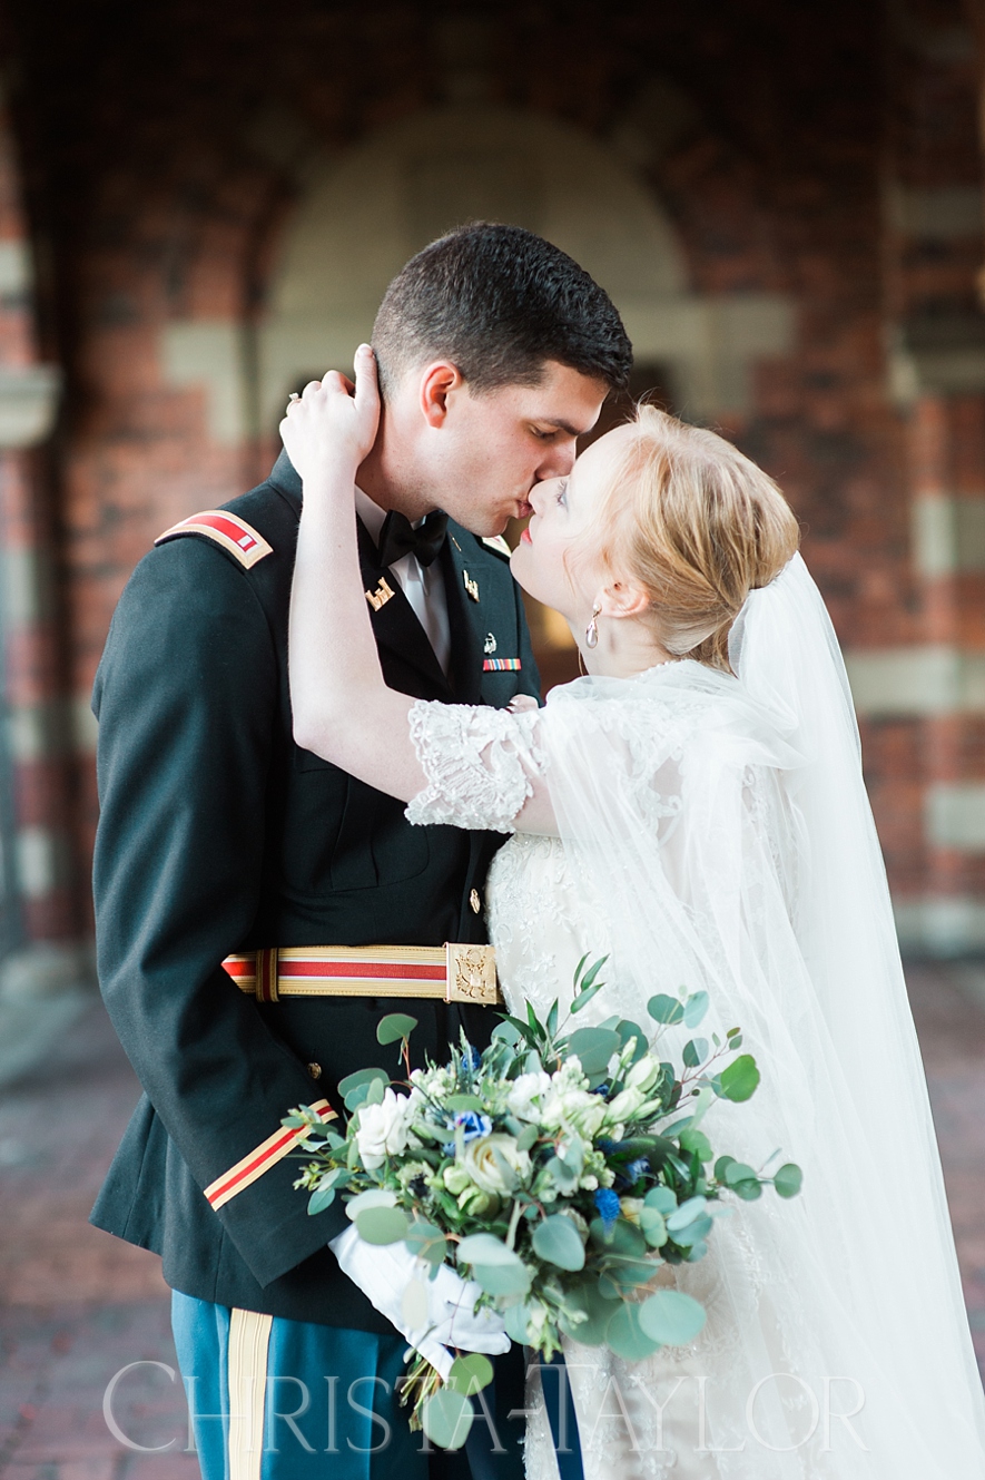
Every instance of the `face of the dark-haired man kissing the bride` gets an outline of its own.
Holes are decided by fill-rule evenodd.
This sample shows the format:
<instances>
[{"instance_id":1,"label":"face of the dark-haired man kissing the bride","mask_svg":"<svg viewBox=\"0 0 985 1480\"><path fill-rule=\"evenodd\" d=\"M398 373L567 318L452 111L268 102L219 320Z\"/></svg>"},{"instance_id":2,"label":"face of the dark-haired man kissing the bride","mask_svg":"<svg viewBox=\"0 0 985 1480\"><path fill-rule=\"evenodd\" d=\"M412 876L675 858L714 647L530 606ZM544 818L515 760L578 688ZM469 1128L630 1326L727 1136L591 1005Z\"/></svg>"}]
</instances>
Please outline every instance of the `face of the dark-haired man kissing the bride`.
<instances>
[{"instance_id":1,"label":"face of the dark-haired man kissing the bride","mask_svg":"<svg viewBox=\"0 0 985 1480\"><path fill-rule=\"evenodd\" d=\"M569 366L547 361L538 385L506 385L473 394L458 380L427 440L433 502L475 534L501 534L525 518L529 493L565 477L577 438L602 410L606 386Z\"/></svg>"}]
</instances>

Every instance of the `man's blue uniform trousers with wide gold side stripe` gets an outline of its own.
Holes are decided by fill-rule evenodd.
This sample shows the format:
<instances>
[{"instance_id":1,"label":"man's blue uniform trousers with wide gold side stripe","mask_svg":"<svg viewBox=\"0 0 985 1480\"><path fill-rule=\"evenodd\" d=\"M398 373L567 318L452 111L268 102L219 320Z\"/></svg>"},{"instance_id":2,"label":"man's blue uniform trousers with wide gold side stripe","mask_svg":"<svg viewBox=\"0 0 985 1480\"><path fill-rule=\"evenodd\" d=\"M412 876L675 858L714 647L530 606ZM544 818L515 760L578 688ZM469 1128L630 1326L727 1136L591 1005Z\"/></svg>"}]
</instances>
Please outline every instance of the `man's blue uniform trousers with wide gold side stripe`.
<instances>
[{"instance_id":1,"label":"man's blue uniform trousers with wide gold side stripe","mask_svg":"<svg viewBox=\"0 0 985 1480\"><path fill-rule=\"evenodd\" d=\"M522 1348L495 1359L464 1449L447 1452L410 1431L395 1391L407 1370L396 1333L177 1291L172 1326L204 1480L522 1480Z\"/></svg>"}]
</instances>

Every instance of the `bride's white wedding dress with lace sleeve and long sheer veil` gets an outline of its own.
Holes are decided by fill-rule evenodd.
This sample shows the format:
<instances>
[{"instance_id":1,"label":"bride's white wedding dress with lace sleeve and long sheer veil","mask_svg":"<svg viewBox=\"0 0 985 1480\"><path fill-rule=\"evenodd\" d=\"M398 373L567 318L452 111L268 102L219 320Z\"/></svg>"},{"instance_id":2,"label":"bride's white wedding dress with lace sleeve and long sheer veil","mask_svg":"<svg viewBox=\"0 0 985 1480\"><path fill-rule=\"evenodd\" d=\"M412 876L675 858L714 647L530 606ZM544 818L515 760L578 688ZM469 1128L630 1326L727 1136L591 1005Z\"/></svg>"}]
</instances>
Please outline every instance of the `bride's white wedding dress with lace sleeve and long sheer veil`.
<instances>
[{"instance_id":1,"label":"bride's white wedding dress with lace sleeve and long sheer veil","mask_svg":"<svg viewBox=\"0 0 985 1480\"><path fill-rule=\"evenodd\" d=\"M703 1302L642 1363L565 1341L586 1480L972 1480L985 1400L879 845L834 635L799 556L737 623L739 678L694 662L580 679L544 710L419 703L416 823L512 830L547 784L561 836L515 833L488 879L510 1011L571 999L654 1029L705 987L762 1083L716 1101L716 1153L796 1160L803 1191L728 1199L707 1255L661 1280ZM584 1018L581 1021L584 1021ZM680 1063L691 1030L661 1040ZM553 1375L552 1375L553 1381ZM527 1473L556 1480L537 1378Z\"/></svg>"}]
</instances>

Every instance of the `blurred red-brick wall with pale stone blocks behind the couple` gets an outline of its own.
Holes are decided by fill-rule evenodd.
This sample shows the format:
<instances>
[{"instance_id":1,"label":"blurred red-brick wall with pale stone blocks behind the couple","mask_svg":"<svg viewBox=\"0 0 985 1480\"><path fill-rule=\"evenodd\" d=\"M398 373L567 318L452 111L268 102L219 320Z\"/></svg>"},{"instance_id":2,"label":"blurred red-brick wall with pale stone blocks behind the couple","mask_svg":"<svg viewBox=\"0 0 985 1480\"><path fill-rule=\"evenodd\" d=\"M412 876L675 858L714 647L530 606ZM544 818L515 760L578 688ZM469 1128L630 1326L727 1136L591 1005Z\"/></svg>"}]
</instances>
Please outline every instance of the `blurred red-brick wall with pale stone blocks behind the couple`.
<instances>
[{"instance_id":1,"label":"blurred red-brick wall with pale stone blocks behind the couple","mask_svg":"<svg viewBox=\"0 0 985 1480\"><path fill-rule=\"evenodd\" d=\"M985 820L979 836L978 793L947 790L985 781L979 68L957 0L3 12L41 352L67 379L52 460L80 858L86 696L127 574L272 457L250 364L318 161L485 105L581 130L660 203L717 326L705 419L787 490L849 651L907 929L985 944ZM788 324L772 339L769 314ZM223 355L246 366L235 406L189 371L195 343L216 376Z\"/></svg>"}]
</instances>

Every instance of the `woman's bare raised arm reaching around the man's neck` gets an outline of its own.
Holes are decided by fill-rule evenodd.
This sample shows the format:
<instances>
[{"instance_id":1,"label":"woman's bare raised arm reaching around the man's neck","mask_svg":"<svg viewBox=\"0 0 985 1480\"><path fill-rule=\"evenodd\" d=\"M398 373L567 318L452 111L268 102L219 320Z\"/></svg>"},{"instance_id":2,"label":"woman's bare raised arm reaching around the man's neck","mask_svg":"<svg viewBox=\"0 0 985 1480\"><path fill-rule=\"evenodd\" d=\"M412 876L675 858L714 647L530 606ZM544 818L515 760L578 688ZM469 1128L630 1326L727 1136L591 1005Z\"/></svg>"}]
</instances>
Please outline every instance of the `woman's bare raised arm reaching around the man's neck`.
<instances>
[{"instance_id":1,"label":"woman's bare raised arm reaching around the man's neck","mask_svg":"<svg viewBox=\"0 0 985 1480\"><path fill-rule=\"evenodd\" d=\"M356 543L355 478L376 440L379 414L376 361L361 345L355 389L343 376L328 374L308 385L281 422L284 445L303 484L288 633L291 709L299 746L410 802L426 790L433 795L435 777L422 765L411 739L410 713L417 700L387 688L383 679ZM457 704L427 709L448 709L463 719L470 713ZM501 710L490 715L500 716L500 727L524 724ZM497 739L509 743L510 736ZM432 758L441 744L453 741L438 733L427 737ZM529 768L527 774L531 795L513 826L555 832L547 789L538 774ZM481 824L472 820L460 826Z\"/></svg>"}]
</instances>

